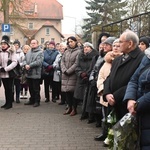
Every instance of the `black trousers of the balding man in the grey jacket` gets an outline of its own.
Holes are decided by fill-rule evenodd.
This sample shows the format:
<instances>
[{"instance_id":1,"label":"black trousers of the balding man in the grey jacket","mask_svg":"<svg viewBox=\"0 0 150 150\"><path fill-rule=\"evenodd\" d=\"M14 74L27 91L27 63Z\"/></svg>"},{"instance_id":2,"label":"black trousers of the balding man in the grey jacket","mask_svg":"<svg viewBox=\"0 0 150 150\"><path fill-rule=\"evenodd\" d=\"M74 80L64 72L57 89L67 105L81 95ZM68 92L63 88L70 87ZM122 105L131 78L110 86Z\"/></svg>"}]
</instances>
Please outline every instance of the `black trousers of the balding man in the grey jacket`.
<instances>
[{"instance_id":1,"label":"black trousers of the balding man in the grey jacket","mask_svg":"<svg viewBox=\"0 0 150 150\"><path fill-rule=\"evenodd\" d=\"M30 102L31 103L40 103L40 79L29 79L29 93L30 93Z\"/></svg>"}]
</instances>

